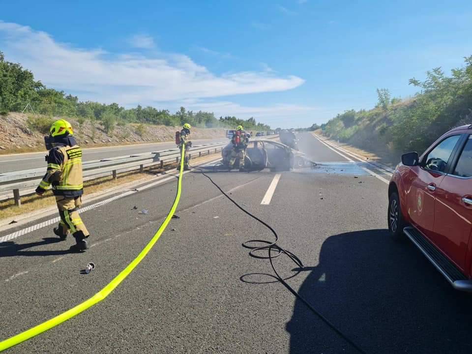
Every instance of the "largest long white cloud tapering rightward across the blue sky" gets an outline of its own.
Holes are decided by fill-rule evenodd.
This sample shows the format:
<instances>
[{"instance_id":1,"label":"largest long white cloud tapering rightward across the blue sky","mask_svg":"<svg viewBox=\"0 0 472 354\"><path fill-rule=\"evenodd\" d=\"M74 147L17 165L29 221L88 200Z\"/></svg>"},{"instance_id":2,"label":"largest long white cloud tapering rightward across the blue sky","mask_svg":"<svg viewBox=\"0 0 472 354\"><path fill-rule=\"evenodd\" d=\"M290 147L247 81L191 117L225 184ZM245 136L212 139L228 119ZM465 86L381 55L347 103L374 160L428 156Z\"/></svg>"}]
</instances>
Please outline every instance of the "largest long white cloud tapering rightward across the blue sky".
<instances>
[{"instance_id":1,"label":"largest long white cloud tapering rightward across the blue sky","mask_svg":"<svg viewBox=\"0 0 472 354\"><path fill-rule=\"evenodd\" d=\"M143 43L141 43L143 44ZM81 100L121 105L209 98L294 89L304 80L271 72L222 75L185 55L111 54L56 42L48 33L0 21L0 48L9 61L21 62L37 80Z\"/></svg>"}]
</instances>

